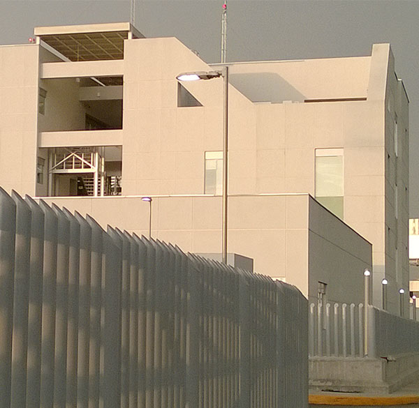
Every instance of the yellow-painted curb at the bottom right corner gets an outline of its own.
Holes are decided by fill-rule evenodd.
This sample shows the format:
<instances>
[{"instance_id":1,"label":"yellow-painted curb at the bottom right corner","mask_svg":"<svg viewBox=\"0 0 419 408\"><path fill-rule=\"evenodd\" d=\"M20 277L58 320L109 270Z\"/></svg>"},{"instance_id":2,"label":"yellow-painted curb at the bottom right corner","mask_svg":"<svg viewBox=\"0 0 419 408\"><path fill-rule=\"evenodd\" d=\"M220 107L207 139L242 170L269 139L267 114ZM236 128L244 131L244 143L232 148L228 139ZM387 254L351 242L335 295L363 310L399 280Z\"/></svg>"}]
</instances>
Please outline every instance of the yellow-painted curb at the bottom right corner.
<instances>
[{"instance_id":1,"label":"yellow-painted curb at the bottom right corner","mask_svg":"<svg viewBox=\"0 0 419 408\"><path fill-rule=\"evenodd\" d=\"M419 395L400 395L394 397L362 397L350 395L309 395L312 405L409 405L419 404Z\"/></svg>"}]
</instances>

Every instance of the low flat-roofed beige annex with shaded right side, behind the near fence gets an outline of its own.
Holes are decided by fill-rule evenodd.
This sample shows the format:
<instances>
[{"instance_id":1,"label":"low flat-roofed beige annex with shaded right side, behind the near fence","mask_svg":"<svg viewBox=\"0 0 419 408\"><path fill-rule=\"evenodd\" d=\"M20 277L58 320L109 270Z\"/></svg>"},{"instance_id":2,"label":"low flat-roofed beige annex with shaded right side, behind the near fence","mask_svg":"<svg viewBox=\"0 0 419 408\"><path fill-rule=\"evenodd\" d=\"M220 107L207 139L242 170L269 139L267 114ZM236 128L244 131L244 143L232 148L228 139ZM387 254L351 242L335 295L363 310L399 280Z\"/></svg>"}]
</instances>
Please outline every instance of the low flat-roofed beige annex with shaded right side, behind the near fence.
<instances>
[{"instance_id":1,"label":"low flat-roofed beige annex with shaded right side, behind the near fence","mask_svg":"<svg viewBox=\"0 0 419 408\"><path fill-rule=\"evenodd\" d=\"M152 197L152 236L191 252L216 252L221 197ZM141 197L54 197L45 202L96 214L97 222L148 236ZM360 303L372 245L308 194L229 197L228 250L254 259L255 271L297 286L311 302ZM323 293L324 292L324 293Z\"/></svg>"}]
</instances>

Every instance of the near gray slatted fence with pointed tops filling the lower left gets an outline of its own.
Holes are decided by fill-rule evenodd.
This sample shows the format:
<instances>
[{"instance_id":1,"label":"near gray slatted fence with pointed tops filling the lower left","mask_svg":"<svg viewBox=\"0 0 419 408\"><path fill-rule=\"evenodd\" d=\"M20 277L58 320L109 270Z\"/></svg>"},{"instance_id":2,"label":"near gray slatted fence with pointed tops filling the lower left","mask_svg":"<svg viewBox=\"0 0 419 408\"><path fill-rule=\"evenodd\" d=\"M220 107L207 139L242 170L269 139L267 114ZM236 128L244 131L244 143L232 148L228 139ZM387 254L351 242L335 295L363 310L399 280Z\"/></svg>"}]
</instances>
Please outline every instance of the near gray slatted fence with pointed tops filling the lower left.
<instances>
[{"instance_id":1,"label":"near gray slatted fence with pointed tops filling the lower left","mask_svg":"<svg viewBox=\"0 0 419 408\"><path fill-rule=\"evenodd\" d=\"M0 188L0 408L307 407L295 287Z\"/></svg>"}]
</instances>

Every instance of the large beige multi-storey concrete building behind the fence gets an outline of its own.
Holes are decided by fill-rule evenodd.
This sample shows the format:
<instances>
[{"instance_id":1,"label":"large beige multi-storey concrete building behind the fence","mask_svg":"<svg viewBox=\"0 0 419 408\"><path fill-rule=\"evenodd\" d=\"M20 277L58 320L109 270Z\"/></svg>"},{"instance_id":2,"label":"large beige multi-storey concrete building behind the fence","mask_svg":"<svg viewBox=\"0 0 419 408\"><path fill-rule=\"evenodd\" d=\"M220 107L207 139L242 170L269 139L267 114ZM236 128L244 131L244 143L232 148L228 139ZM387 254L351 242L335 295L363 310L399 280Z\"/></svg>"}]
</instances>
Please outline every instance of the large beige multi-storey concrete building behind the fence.
<instances>
[{"instance_id":1,"label":"large beige multi-storey concrete building behind the fence","mask_svg":"<svg viewBox=\"0 0 419 408\"><path fill-rule=\"evenodd\" d=\"M222 80L176 80L218 64L128 23L37 28L34 44L0 47L0 61L3 188L138 234L149 220L140 197L152 196L153 236L220 251ZM373 244L375 303L385 277L397 311L397 291L409 287L409 119L390 45L228 66L229 252L273 278L305 279L298 286L316 296L320 278L295 278L320 267L316 236L339 248L318 256L353 282L349 294L370 262L353 228Z\"/></svg>"}]
</instances>

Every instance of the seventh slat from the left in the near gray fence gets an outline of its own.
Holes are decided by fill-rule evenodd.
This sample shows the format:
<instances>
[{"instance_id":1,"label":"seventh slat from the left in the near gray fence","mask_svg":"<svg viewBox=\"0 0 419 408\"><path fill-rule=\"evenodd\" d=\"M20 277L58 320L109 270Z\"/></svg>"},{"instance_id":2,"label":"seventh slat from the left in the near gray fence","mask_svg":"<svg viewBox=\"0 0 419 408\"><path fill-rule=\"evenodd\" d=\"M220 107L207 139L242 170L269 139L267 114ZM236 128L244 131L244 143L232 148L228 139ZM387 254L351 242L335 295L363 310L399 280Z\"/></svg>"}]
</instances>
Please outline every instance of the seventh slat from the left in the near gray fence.
<instances>
[{"instance_id":1,"label":"seventh slat from the left in the near gray fence","mask_svg":"<svg viewBox=\"0 0 419 408\"><path fill-rule=\"evenodd\" d=\"M89 405L91 227L77 211L75 218L80 223L77 401L78 408L87 408Z\"/></svg>"}]
</instances>

